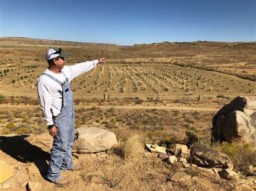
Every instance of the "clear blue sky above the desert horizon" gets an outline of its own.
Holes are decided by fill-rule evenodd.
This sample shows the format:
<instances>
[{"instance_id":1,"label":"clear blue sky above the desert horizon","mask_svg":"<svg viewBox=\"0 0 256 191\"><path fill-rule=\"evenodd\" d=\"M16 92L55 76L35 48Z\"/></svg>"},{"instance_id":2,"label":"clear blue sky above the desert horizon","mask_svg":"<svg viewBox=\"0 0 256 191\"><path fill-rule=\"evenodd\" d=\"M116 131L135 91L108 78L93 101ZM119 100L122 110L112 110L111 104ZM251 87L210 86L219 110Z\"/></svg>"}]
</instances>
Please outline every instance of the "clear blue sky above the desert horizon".
<instances>
[{"instance_id":1,"label":"clear blue sky above the desert horizon","mask_svg":"<svg viewBox=\"0 0 256 191\"><path fill-rule=\"evenodd\" d=\"M256 0L0 0L0 37L118 45L256 41Z\"/></svg>"}]
</instances>

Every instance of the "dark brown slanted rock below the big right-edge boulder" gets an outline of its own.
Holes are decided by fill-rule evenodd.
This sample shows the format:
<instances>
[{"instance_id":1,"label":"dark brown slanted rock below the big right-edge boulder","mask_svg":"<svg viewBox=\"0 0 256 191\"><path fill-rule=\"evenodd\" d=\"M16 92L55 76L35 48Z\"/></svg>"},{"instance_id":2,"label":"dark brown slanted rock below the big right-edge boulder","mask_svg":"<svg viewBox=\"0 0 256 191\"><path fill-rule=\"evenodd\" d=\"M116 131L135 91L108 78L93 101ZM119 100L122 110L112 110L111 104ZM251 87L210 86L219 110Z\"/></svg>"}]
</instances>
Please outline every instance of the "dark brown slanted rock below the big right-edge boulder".
<instances>
[{"instance_id":1,"label":"dark brown slanted rock below the big right-edge boulder","mask_svg":"<svg viewBox=\"0 0 256 191\"><path fill-rule=\"evenodd\" d=\"M193 164L201 167L220 167L233 169L232 160L224 153L205 145L196 145L191 148L189 159Z\"/></svg>"}]
</instances>

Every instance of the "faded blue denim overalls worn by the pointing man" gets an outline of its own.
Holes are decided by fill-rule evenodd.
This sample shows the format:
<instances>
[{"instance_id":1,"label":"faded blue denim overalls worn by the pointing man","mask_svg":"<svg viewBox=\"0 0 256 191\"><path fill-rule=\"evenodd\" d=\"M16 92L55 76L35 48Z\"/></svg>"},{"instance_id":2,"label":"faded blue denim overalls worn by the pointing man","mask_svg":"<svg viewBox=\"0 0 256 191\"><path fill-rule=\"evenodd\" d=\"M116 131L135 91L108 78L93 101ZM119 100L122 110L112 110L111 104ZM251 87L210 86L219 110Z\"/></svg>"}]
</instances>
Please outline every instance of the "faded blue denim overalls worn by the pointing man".
<instances>
[{"instance_id":1,"label":"faded blue denim overalls worn by the pointing man","mask_svg":"<svg viewBox=\"0 0 256 191\"><path fill-rule=\"evenodd\" d=\"M63 73L64 74L64 73ZM53 123L57 128L57 136L53 139L51 158L46 178L55 182L62 178L60 169L70 169L74 166L72 161L71 146L75 136L75 114L73 109L73 94L69 79L62 83L55 77L43 73L62 86L62 109L57 117L53 117Z\"/></svg>"}]
</instances>

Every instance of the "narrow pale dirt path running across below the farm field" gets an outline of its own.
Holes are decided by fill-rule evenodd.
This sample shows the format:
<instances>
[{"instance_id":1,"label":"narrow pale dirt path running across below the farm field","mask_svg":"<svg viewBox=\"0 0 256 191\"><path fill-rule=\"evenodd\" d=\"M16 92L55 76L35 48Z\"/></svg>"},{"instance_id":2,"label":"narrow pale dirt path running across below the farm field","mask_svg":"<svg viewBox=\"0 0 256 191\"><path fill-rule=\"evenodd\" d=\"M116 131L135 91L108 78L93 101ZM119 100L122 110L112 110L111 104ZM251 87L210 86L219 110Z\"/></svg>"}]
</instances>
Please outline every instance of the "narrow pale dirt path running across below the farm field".
<instances>
[{"instance_id":1,"label":"narrow pale dirt path running across below the farm field","mask_svg":"<svg viewBox=\"0 0 256 191\"><path fill-rule=\"evenodd\" d=\"M76 109L85 108L89 109L97 107L100 109L163 109L163 110L189 110L189 111L218 111L217 108L196 108L196 107L165 107L165 106L142 106L142 105L75 105ZM10 105L0 104L0 108L39 108L38 105Z\"/></svg>"}]
</instances>

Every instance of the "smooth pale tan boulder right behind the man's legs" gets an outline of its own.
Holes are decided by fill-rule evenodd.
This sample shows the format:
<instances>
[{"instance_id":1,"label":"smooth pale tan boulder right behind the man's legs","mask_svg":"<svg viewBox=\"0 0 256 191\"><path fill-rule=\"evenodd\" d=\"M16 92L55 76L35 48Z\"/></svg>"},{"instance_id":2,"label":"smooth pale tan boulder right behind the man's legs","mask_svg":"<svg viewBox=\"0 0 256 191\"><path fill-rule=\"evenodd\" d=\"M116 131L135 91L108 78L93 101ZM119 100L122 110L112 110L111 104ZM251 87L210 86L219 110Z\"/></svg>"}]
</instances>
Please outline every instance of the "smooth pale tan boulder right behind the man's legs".
<instances>
[{"instance_id":1,"label":"smooth pale tan boulder right behind the man's legs","mask_svg":"<svg viewBox=\"0 0 256 191\"><path fill-rule=\"evenodd\" d=\"M109 150L116 145L117 138L113 132L101 128L78 128L75 130L75 142L72 152L86 154Z\"/></svg>"}]
</instances>

